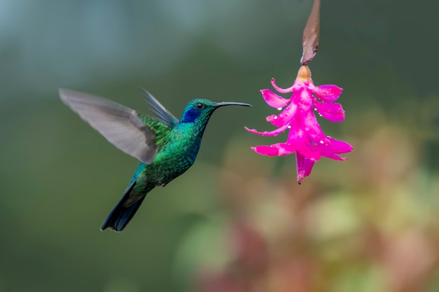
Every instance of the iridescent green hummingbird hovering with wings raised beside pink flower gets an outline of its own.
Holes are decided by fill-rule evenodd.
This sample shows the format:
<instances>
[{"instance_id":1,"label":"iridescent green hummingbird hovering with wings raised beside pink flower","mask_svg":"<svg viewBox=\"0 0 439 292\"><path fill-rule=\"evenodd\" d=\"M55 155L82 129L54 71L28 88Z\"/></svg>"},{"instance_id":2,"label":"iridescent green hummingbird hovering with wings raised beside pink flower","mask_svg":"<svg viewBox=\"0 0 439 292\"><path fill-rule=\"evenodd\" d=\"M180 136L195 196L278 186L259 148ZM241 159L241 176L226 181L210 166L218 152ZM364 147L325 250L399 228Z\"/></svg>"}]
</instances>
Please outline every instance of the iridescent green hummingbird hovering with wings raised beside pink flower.
<instances>
[{"instance_id":1,"label":"iridescent green hummingbird hovering with wings raised beside pink flower","mask_svg":"<svg viewBox=\"0 0 439 292\"><path fill-rule=\"evenodd\" d=\"M251 106L242 102L191 100L180 120L147 90L142 90L154 118L116 102L74 90L60 89L60 98L116 148L140 160L119 202L100 230L121 232L147 193L166 186L194 164L212 113L221 106Z\"/></svg>"}]
</instances>

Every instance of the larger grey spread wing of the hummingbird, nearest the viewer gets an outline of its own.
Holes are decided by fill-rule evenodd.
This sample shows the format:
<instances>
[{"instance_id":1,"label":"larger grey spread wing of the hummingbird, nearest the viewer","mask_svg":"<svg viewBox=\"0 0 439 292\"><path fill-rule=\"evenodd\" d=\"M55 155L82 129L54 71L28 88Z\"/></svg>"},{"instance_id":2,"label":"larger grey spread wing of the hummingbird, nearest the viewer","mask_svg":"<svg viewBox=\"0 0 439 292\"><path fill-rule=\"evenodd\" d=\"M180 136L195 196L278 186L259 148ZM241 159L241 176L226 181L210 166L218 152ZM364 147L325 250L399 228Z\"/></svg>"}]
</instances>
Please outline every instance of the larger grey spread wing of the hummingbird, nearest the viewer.
<instances>
[{"instance_id":1,"label":"larger grey spread wing of the hummingbird, nearest the viewer","mask_svg":"<svg viewBox=\"0 0 439 292\"><path fill-rule=\"evenodd\" d=\"M121 151L151 164L157 153L155 134L137 112L107 99L60 89L62 102Z\"/></svg>"}]
</instances>

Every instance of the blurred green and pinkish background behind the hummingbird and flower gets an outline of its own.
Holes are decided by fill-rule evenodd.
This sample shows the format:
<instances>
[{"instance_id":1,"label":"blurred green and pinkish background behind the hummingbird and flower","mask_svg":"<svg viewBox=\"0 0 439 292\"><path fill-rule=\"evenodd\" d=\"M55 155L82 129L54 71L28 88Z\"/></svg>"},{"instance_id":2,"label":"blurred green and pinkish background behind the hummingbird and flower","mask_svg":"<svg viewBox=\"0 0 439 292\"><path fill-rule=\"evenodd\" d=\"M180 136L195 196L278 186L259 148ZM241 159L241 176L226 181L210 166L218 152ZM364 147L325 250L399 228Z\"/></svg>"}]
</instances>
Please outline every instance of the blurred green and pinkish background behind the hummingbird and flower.
<instances>
[{"instance_id":1,"label":"blurred green and pinkish background behind the hummingbird and flower","mask_svg":"<svg viewBox=\"0 0 439 292\"><path fill-rule=\"evenodd\" d=\"M0 0L0 291L439 291L438 1L323 1L316 85L349 160L297 185L259 90L292 84L310 0ZM217 111L194 167L100 232L137 161L58 88Z\"/></svg>"}]
</instances>

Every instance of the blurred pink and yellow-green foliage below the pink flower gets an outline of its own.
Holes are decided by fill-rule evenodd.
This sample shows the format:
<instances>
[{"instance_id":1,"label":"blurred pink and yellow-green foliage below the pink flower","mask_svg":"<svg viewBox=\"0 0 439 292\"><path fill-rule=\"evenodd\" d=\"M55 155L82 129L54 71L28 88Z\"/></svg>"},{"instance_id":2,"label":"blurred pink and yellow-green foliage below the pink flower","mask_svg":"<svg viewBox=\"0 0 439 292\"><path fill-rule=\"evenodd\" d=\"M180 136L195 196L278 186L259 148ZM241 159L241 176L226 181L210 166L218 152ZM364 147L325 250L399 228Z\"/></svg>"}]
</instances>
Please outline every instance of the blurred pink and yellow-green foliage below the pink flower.
<instances>
[{"instance_id":1,"label":"blurred pink and yellow-green foliage below the pink flower","mask_svg":"<svg viewBox=\"0 0 439 292\"><path fill-rule=\"evenodd\" d=\"M201 267L198 291L436 291L439 178L419 179L421 152L410 136L360 126L352 163L302 186L229 149L220 181L224 218L233 218L231 260Z\"/></svg>"}]
</instances>

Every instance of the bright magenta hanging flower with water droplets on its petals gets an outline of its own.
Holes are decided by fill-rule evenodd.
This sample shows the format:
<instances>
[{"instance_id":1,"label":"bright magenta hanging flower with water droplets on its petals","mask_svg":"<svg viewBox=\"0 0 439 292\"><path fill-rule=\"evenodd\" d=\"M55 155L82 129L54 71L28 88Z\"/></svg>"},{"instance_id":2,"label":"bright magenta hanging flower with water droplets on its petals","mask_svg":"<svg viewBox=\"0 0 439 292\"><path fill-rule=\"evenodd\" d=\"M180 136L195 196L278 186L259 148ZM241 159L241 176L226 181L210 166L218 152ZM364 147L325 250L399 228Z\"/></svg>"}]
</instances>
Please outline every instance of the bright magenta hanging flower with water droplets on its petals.
<instances>
[{"instance_id":1,"label":"bright magenta hanging flower with water droplets on its petals","mask_svg":"<svg viewBox=\"0 0 439 292\"><path fill-rule=\"evenodd\" d=\"M271 90L261 90L262 97L269 106L279 111L283 109L278 115L266 117L266 120L278 129L271 132L257 132L247 127L245 129L262 136L276 136L289 129L288 139L285 143L256 146L252 149L258 154L269 156L296 153L298 183L309 176L314 162L322 156L345 160L346 158L339 155L351 152L352 146L325 136L313 111L315 109L320 116L331 122L344 120L342 104L334 102L342 94L342 88L336 85L315 86L311 79L311 71L306 65L300 67L295 83L290 88L278 88L274 79L271 79L271 85L280 93L292 92L290 99L285 99Z\"/></svg>"}]
</instances>

